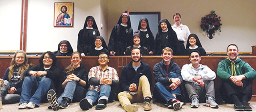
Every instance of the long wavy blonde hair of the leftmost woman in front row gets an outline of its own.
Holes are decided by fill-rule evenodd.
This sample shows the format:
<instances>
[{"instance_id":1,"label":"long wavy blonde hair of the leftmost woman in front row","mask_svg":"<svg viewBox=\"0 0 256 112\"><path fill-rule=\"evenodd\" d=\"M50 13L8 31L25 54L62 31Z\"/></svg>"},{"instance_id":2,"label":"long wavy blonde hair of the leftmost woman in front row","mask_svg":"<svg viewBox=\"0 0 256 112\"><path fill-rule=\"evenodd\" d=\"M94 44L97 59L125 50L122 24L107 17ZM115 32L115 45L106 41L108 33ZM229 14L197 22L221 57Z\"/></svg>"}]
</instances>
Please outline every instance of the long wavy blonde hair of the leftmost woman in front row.
<instances>
[{"instance_id":1,"label":"long wavy blonde hair of the leftmost woman in front row","mask_svg":"<svg viewBox=\"0 0 256 112\"><path fill-rule=\"evenodd\" d=\"M14 66L16 67L17 66L17 64L16 64L16 61L15 61L15 58L16 58L16 56L17 56L17 54L18 53L22 53L22 54L24 54L24 62L23 62L23 64L20 64L20 67L19 67L19 69L18 69L18 73L20 73L20 79L22 80L23 78L24 78L24 75L23 75L23 72L26 70L26 69L28 69L29 68L29 64L28 64L28 58L27 58L27 54L26 54L26 52L24 52L23 50L17 50L15 53L14 53L14 56L12 57L12 61L10 62L10 67L9 67L9 69L10 69L10 71L9 71L9 75L8 75L8 77L9 77L9 81L11 80L11 78L12 78L12 74L13 74L13 71L14 71Z\"/></svg>"}]
</instances>

